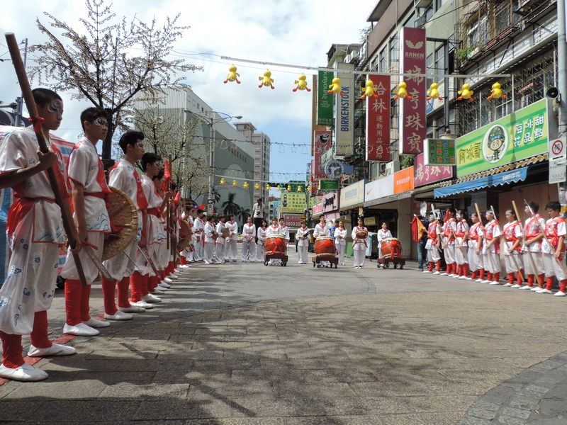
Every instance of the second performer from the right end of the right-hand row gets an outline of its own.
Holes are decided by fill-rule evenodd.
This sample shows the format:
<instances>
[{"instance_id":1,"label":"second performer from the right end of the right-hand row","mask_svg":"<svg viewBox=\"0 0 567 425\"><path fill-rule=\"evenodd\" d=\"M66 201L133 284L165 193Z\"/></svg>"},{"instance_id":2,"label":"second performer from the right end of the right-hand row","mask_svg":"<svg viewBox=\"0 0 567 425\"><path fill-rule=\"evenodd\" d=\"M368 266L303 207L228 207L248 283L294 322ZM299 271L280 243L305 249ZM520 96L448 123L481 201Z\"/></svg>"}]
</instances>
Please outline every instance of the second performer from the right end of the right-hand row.
<instances>
[{"instance_id":1,"label":"second performer from the right end of the right-hand row","mask_svg":"<svg viewBox=\"0 0 567 425\"><path fill-rule=\"evenodd\" d=\"M532 212L534 216L532 217ZM524 259L524 270L527 274L527 285L522 286L520 289L531 289L538 291L544 288L545 285L545 268L544 268L544 254L541 253L541 243L544 239L544 234L540 229L545 229L545 220L537 213L539 211L539 204L535 201L530 201L524 209L528 215L524 224L524 240L522 244L522 257ZM534 266L532 266L532 261ZM534 285L536 281L535 276L541 285Z\"/></svg>"}]
</instances>

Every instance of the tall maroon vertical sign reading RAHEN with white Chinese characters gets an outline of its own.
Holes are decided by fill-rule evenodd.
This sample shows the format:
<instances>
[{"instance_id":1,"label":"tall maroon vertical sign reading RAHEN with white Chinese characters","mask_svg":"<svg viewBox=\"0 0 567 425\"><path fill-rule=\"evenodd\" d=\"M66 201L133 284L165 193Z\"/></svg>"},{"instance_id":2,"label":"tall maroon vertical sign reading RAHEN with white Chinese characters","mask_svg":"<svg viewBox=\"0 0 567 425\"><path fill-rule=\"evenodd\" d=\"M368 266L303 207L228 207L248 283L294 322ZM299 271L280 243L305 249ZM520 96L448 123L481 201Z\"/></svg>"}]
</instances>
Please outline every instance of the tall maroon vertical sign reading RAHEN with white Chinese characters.
<instances>
[{"instance_id":1,"label":"tall maroon vertical sign reading RAHEN with white Chinese characters","mask_svg":"<svg viewBox=\"0 0 567 425\"><path fill-rule=\"evenodd\" d=\"M425 30L420 28L402 28L401 72L404 74L425 74ZM400 102L400 154L420 154L425 139L425 77L405 75L401 81L407 84L410 98Z\"/></svg>"}]
</instances>

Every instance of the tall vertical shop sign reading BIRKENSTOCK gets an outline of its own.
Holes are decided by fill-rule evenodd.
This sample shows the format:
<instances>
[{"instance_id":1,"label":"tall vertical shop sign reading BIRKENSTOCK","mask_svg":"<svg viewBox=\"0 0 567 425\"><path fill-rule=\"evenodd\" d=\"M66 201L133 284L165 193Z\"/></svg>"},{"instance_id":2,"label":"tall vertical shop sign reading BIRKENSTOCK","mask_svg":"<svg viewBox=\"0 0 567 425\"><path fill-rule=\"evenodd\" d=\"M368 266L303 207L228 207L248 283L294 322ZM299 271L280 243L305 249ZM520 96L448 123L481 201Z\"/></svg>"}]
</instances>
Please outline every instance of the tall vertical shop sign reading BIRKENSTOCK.
<instances>
[{"instance_id":1,"label":"tall vertical shop sign reading BIRKENSTOCK","mask_svg":"<svg viewBox=\"0 0 567 425\"><path fill-rule=\"evenodd\" d=\"M342 96L337 94L335 111L335 154L354 154L354 64L337 63L337 77L341 80Z\"/></svg>"}]
</instances>

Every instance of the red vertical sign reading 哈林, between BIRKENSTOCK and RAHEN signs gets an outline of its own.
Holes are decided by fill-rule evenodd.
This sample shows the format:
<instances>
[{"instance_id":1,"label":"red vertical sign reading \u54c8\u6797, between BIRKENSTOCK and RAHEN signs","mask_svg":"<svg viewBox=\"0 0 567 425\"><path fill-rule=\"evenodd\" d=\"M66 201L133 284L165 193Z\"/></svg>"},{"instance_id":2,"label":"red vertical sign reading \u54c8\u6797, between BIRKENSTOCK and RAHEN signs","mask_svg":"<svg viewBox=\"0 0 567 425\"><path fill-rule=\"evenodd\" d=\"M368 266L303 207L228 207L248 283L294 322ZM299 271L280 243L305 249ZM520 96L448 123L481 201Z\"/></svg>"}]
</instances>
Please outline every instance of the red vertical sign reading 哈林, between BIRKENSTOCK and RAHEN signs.
<instances>
[{"instance_id":1,"label":"red vertical sign reading \u54c8\u6797, between BIRKENSTOCK and RAHEN signs","mask_svg":"<svg viewBox=\"0 0 567 425\"><path fill-rule=\"evenodd\" d=\"M390 161L390 76L369 75L377 98L366 97L366 161Z\"/></svg>"}]
</instances>

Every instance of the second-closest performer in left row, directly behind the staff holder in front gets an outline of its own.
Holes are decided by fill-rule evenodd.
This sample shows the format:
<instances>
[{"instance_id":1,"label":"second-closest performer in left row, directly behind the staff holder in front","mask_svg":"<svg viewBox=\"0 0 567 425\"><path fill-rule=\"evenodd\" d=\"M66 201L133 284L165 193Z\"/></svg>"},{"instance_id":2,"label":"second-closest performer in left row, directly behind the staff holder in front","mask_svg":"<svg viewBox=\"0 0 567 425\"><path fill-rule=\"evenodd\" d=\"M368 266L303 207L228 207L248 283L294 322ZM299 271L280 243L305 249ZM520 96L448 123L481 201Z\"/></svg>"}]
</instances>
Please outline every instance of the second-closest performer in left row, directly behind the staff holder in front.
<instances>
[{"instance_id":1,"label":"second-closest performer in left row, directly behind the staff holder in front","mask_svg":"<svg viewBox=\"0 0 567 425\"><path fill-rule=\"evenodd\" d=\"M104 140L108 131L106 112L100 108L87 108L81 113L84 137L74 145L69 155L67 177L71 189L74 222L79 242L90 246L101 259L105 234L111 231L105 198L111 190L106 185L104 168L96 153L96 143ZM94 328L107 327L108 322L94 319L89 315L91 283L99 276L96 268L84 250L79 252L86 278L86 286L79 280L77 266L71 251L67 252L61 276L65 279L65 312L67 320L65 334L92 336L99 331Z\"/></svg>"}]
</instances>

